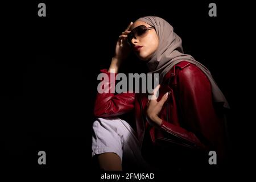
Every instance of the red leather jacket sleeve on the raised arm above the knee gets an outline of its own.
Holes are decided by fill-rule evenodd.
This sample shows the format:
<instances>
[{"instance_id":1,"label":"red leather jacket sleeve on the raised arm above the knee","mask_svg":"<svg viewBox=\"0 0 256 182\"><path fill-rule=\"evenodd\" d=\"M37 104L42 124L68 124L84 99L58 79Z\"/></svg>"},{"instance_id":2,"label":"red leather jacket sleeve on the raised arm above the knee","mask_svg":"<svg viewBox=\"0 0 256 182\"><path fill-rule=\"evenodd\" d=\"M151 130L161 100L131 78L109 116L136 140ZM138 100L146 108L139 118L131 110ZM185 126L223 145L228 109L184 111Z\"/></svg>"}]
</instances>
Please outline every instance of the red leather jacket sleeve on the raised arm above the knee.
<instances>
[{"instance_id":1,"label":"red leather jacket sleeve on the raised arm above the knee","mask_svg":"<svg viewBox=\"0 0 256 182\"><path fill-rule=\"evenodd\" d=\"M134 93L111 93L110 89L115 86L115 73L109 73L106 69L101 70L102 73L108 75L109 79L102 79L101 84L104 84L104 93L97 93L94 104L94 115L96 117L113 117L127 113L134 109L135 94ZM114 80L110 81L110 75ZM112 88L113 89L113 88Z\"/></svg>"}]
</instances>

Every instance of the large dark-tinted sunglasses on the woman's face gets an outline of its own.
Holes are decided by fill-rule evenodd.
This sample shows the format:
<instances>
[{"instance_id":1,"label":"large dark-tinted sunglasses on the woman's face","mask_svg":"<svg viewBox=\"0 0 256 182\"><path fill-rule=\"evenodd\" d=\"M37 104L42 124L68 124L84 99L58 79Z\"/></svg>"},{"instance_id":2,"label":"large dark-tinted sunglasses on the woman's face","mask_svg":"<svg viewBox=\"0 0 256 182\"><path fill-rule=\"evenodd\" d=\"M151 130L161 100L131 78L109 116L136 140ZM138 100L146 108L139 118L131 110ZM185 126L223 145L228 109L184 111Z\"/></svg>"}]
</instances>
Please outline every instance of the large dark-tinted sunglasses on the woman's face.
<instances>
[{"instance_id":1,"label":"large dark-tinted sunglasses on the woman's face","mask_svg":"<svg viewBox=\"0 0 256 182\"><path fill-rule=\"evenodd\" d=\"M130 31L129 34L127 34L127 43L131 46L131 40L137 39L137 38L143 38L147 35L148 30L154 29L155 27L146 27L144 25L138 26L136 28L133 28L133 30Z\"/></svg>"}]
</instances>

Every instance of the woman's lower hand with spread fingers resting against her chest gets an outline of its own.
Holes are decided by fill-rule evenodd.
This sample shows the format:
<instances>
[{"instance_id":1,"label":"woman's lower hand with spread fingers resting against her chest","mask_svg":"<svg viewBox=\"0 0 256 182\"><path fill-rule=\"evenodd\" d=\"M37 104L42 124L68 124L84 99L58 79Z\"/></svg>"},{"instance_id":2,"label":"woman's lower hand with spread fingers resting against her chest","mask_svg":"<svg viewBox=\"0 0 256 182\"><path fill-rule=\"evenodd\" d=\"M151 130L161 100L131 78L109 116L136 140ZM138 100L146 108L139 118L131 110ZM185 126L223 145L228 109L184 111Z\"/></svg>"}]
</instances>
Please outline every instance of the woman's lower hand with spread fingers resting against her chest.
<instances>
[{"instance_id":1,"label":"woman's lower hand with spread fingers resting against her chest","mask_svg":"<svg viewBox=\"0 0 256 182\"><path fill-rule=\"evenodd\" d=\"M161 98L161 100L158 102L156 101L157 97L156 94L160 88L160 85L156 86L156 88L153 91L153 95L151 97L151 100L148 100L147 103L147 120L150 122L151 125L155 127L159 127L162 124L162 119L158 117L158 114L163 108L164 102L167 101L168 98L168 92L164 94L164 96Z\"/></svg>"}]
</instances>

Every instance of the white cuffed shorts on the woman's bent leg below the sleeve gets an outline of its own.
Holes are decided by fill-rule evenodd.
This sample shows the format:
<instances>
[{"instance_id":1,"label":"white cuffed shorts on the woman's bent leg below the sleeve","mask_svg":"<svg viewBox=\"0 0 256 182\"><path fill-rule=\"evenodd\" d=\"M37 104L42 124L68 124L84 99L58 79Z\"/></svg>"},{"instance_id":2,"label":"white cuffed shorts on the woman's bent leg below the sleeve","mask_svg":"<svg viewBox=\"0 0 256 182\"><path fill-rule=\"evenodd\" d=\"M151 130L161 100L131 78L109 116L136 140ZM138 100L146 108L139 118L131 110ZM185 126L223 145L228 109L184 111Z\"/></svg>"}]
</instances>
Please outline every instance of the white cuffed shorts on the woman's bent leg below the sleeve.
<instances>
[{"instance_id":1,"label":"white cuffed shorts on the woman's bent leg below the sleeve","mask_svg":"<svg viewBox=\"0 0 256 182\"><path fill-rule=\"evenodd\" d=\"M93 123L92 155L114 152L122 164L131 169L150 169L141 154L141 144L126 121L98 118Z\"/></svg>"}]
</instances>

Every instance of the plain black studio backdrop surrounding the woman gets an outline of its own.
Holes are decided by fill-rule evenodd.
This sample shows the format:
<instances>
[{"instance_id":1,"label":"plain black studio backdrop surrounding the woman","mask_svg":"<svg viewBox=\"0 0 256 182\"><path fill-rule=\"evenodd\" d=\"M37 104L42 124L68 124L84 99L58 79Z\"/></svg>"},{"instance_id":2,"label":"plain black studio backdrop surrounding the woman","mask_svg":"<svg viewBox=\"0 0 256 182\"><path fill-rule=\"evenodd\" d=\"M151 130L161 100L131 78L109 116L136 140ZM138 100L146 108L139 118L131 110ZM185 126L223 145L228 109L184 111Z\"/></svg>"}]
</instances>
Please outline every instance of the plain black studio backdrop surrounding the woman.
<instances>
[{"instance_id":1,"label":"plain black studio backdrop surrounding the woman","mask_svg":"<svg viewBox=\"0 0 256 182\"><path fill-rule=\"evenodd\" d=\"M46 17L38 3L46 3ZM245 126L249 112L242 103L250 95L241 87L240 11L245 4L219 1L160 2L10 2L2 15L1 164L31 176L59 173L86 178L94 171L91 135L97 75L109 67L119 34L145 15L166 19L183 40L184 52L211 71L230 107L229 131L233 163L227 171L246 169L250 158ZM217 17L208 15L209 3ZM239 26L237 25L239 23ZM131 58L133 58L131 56ZM125 63L142 72L143 63ZM237 93L240 93L240 97ZM241 97L241 94L244 97ZM38 164L38 151L47 164ZM67 172L67 173L65 173ZM65 175L64 175L65 174Z\"/></svg>"}]
</instances>

